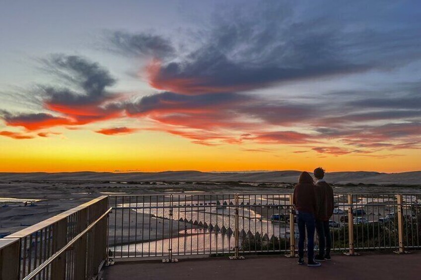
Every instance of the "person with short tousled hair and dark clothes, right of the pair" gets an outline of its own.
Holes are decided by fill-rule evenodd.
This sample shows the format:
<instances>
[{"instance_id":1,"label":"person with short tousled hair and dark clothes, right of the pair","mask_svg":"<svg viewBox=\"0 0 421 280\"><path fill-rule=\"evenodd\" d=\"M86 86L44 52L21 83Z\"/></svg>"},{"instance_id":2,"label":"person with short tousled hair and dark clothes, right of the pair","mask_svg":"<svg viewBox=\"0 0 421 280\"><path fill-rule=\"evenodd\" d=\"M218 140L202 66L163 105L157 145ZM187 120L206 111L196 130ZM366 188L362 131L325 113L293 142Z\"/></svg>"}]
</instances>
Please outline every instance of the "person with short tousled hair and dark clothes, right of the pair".
<instances>
[{"instance_id":1,"label":"person with short tousled hair and dark clothes, right of the pair","mask_svg":"<svg viewBox=\"0 0 421 280\"><path fill-rule=\"evenodd\" d=\"M319 254L314 259L317 262L331 260L330 249L332 241L329 219L333 215L334 199L332 187L323 179L324 176L325 170L323 168L314 169L314 177L317 179L315 192L318 209L316 213L316 230L319 238Z\"/></svg>"}]
</instances>

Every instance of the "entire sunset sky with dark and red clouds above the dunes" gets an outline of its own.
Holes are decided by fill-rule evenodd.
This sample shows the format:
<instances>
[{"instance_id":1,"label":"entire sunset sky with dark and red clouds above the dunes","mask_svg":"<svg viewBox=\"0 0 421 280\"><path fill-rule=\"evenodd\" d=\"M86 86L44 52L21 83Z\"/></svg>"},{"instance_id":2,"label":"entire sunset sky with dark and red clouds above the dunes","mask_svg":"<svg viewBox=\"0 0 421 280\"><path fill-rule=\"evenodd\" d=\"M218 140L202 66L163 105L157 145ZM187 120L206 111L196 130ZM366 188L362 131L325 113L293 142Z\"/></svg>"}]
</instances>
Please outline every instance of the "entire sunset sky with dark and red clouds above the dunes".
<instances>
[{"instance_id":1,"label":"entire sunset sky with dark and red clouds above the dunes","mask_svg":"<svg viewBox=\"0 0 421 280\"><path fill-rule=\"evenodd\" d=\"M0 171L421 170L419 1L1 7Z\"/></svg>"}]
</instances>

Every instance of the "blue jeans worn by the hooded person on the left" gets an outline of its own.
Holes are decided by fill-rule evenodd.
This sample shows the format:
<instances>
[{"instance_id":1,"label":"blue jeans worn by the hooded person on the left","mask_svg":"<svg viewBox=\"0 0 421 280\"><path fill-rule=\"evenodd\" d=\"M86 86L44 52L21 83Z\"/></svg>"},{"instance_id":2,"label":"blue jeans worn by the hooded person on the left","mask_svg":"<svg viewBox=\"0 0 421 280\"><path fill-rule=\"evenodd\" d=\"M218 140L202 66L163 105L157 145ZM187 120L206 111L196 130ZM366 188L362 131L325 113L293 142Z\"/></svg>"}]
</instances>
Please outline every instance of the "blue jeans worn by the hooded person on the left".
<instances>
[{"instance_id":1,"label":"blue jeans worn by the hooded person on the left","mask_svg":"<svg viewBox=\"0 0 421 280\"><path fill-rule=\"evenodd\" d=\"M298 257L304 257L304 239L305 229L307 228L307 257L308 260L313 260L314 257L314 230L315 219L314 214L302 213L298 211L297 217L298 231L300 238L298 239Z\"/></svg>"}]
</instances>

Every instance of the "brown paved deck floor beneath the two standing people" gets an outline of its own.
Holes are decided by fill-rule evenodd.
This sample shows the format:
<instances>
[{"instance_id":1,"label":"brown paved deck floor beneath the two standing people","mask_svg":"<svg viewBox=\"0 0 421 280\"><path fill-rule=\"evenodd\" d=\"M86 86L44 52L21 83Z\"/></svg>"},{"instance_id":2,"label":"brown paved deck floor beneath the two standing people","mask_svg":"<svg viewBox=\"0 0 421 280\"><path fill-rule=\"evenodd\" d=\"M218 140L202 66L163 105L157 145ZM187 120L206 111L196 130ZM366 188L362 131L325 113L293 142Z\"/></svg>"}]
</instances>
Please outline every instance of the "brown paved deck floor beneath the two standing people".
<instances>
[{"instance_id":1,"label":"brown paved deck floor beneath the two standing people","mask_svg":"<svg viewBox=\"0 0 421 280\"><path fill-rule=\"evenodd\" d=\"M105 268L104 280L410 280L421 279L421 252L408 255L363 253L348 257L333 255L319 268L298 266L297 259L283 256L253 256L246 260L227 258L180 260L178 263L122 262Z\"/></svg>"}]
</instances>

